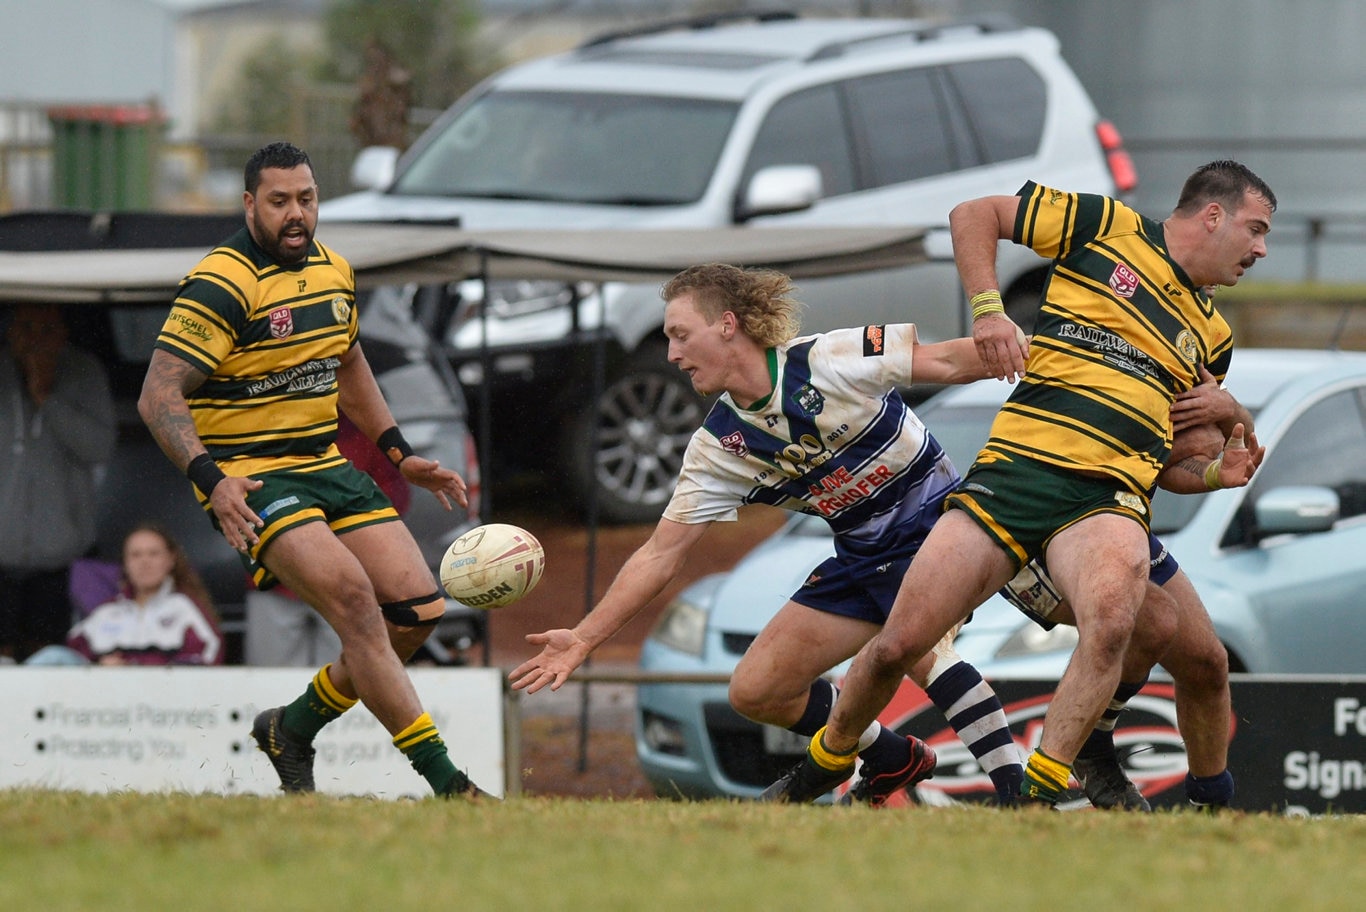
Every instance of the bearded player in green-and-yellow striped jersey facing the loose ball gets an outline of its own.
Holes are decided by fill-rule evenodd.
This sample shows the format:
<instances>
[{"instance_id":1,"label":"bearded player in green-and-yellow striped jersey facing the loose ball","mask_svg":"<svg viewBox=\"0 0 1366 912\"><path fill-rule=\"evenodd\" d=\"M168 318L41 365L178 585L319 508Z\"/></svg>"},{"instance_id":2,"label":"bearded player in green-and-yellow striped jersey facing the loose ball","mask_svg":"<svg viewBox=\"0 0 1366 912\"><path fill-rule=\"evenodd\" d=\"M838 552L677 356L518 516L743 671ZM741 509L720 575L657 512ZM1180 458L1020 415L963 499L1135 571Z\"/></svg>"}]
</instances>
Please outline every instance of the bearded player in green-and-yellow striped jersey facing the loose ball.
<instances>
[{"instance_id":1,"label":"bearded player in green-and-yellow striped jersey facing the loose ball","mask_svg":"<svg viewBox=\"0 0 1366 912\"><path fill-rule=\"evenodd\" d=\"M445 599L389 500L337 451L337 410L447 508L466 505L464 481L414 455L393 422L357 340L351 266L313 238L307 154L265 146L245 180L246 227L180 285L138 411L257 584L284 583L342 640L251 735L284 790L311 792L314 736L363 700L433 792L479 795L403 669Z\"/></svg>"}]
</instances>

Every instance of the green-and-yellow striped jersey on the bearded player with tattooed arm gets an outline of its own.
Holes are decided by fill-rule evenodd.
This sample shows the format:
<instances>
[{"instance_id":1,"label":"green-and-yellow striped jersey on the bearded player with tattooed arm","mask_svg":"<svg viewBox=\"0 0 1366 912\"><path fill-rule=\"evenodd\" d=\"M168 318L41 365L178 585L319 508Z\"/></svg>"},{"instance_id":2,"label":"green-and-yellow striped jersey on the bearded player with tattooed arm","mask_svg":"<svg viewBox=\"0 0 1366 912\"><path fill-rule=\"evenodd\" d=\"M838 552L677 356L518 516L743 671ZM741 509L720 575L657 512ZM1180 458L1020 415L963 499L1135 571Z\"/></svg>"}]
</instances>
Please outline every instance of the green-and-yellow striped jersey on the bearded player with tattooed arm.
<instances>
[{"instance_id":1,"label":"green-and-yellow striped jersey on the bearded player with tattooed arm","mask_svg":"<svg viewBox=\"0 0 1366 912\"><path fill-rule=\"evenodd\" d=\"M314 240L280 266L243 228L180 284L156 347L208 374L189 399L195 429L225 471L249 475L342 461L337 367L357 326L346 259Z\"/></svg>"}]
</instances>

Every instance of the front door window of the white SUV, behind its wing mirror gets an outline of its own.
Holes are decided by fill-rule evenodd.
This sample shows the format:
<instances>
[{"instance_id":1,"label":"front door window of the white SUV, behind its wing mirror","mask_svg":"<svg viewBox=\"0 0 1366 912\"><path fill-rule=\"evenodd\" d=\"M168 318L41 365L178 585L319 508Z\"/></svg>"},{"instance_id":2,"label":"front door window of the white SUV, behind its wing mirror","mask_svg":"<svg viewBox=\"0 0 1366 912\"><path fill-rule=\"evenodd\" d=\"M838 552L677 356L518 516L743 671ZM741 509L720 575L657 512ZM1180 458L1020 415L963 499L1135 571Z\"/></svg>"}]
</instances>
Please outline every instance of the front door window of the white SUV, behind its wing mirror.
<instances>
[{"instance_id":1,"label":"front door window of the white SUV, behind its wing mirror","mask_svg":"<svg viewBox=\"0 0 1366 912\"><path fill-rule=\"evenodd\" d=\"M826 197L854 190L854 156L833 86L796 91L773 105L754 137L740 186L769 165L816 165Z\"/></svg>"}]
</instances>

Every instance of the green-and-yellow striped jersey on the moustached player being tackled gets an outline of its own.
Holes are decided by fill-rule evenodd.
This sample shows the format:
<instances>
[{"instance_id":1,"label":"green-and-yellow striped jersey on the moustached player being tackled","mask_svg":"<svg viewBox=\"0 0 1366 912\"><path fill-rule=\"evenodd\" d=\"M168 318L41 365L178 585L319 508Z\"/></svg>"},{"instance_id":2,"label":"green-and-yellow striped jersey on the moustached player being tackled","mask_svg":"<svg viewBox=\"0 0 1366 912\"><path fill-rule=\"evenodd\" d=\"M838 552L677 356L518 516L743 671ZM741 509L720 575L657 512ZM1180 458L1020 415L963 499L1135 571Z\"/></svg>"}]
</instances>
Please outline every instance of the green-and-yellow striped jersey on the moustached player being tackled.
<instances>
[{"instance_id":1,"label":"green-and-yellow striped jersey on the moustached player being tackled","mask_svg":"<svg viewBox=\"0 0 1366 912\"><path fill-rule=\"evenodd\" d=\"M1026 377L979 460L1022 455L1147 494L1171 455L1176 393L1228 371L1232 332L1124 203L1027 183L1015 242L1053 259Z\"/></svg>"}]
</instances>

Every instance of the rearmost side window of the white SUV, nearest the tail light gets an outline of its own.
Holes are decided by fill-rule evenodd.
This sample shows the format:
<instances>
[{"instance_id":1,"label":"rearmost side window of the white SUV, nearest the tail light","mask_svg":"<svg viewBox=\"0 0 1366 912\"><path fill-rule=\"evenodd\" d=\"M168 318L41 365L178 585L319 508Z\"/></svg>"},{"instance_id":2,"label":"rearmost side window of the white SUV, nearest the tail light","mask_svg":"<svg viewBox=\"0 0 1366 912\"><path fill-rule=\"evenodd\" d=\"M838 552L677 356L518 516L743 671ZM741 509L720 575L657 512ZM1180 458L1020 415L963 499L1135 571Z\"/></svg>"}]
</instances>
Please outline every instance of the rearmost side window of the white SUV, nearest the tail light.
<instances>
[{"instance_id":1,"label":"rearmost side window of the white SUV, nearest the tail light","mask_svg":"<svg viewBox=\"0 0 1366 912\"><path fill-rule=\"evenodd\" d=\"M971 60L945 67L963 100L984 161L1009 161L1038 152L1048 112L1048 86L1019 57Z\"/></svg>"}]
</instances>

